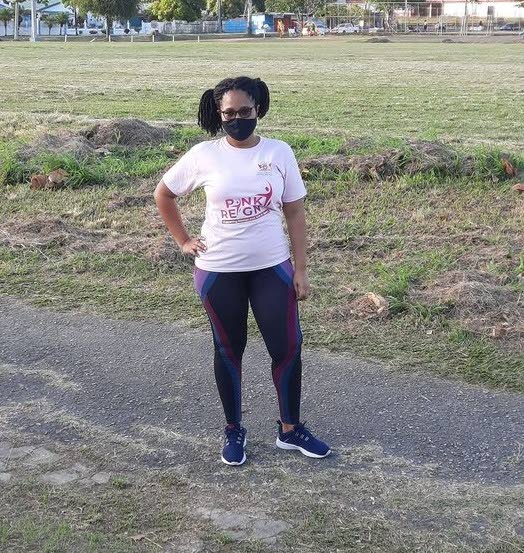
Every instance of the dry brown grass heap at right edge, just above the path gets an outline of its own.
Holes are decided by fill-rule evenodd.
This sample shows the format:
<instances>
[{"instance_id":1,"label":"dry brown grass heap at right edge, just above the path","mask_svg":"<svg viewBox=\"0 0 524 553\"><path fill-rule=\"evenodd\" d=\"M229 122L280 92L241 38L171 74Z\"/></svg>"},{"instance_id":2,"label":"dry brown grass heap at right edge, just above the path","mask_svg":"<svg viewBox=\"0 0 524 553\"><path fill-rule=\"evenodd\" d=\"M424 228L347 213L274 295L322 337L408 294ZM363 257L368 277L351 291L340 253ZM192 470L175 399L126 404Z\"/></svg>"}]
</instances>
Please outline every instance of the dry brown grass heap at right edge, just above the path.
<instances>
[{"instance_id":1,"label":"dry brown grass heap at right edge, just above the path","mask_svg":"<svg viewBox=\"0 0 524 553\"><path fill-rule=\"evenodd\" d=\"M449 305L449 316L477 334L524 337L524 302L517 292L503 286L501 279L490 273L475 270L445 273L431 285L413 289L410 298L427 305ZM499 332L501 328L503 333Z\"/></svg>"}]
</instances>

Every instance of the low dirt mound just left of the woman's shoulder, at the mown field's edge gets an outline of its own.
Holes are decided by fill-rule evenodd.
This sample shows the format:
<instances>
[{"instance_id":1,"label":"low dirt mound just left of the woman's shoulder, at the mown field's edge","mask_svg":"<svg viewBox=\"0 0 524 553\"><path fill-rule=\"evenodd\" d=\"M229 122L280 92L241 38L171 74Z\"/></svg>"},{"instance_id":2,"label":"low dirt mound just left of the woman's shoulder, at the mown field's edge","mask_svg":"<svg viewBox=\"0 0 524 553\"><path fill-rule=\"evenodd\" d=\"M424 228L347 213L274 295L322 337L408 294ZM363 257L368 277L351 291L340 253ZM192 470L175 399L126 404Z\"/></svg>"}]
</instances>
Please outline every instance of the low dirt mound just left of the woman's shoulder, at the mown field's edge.
<instances>
[{"instance_id":1,"label":"low dirt mound just left of the woman's shoulder, at the mown field's edge","mask_svg":"<svg viewBox=\"0 0 524 553\"><path fill-rule=\"evenodd\" d=\"M110 145L137 148L164 142L169 129L153 127L140 119L114 119L96 124L85 132L85 137L97 148Z\"/></svg>"}]
</instances>

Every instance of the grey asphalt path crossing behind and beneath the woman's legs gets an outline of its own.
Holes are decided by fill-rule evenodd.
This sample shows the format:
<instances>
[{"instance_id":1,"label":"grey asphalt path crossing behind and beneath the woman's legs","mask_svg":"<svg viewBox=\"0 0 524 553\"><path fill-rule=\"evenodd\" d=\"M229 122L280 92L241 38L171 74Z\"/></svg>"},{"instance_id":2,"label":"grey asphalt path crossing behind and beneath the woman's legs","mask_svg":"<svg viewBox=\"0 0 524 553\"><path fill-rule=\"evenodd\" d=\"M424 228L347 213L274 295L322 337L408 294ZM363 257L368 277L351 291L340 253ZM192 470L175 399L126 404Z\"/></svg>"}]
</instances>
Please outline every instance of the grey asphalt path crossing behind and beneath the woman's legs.
<instances>
[{"instance_id":1,"label":"grey asphalt path crossing behind and beneath the woman's legs","mask_svg":"<svg viewBox=\"0 0 524 553\"><path fill-rule=\"evenodd\" d=\"M59 421L35 428L25 420L21 406L39 400L130 438L146 426L202 443L220 436L206 332L55 313L5 298L0 313L0 402L13 406L11 424L66 440ZM522 481L524 461L508 460L524 442L524 397L398 375L351 357L306 352L304 361L303 418L335 451L373 442L386 454L434 464L442 476ZM272 450L277 408L261 343L248 345L243 373L244 423ZM176 464L188 454L147 462ZM336 462L335 455L322 466Z\"/></svg>"}]
</instances>

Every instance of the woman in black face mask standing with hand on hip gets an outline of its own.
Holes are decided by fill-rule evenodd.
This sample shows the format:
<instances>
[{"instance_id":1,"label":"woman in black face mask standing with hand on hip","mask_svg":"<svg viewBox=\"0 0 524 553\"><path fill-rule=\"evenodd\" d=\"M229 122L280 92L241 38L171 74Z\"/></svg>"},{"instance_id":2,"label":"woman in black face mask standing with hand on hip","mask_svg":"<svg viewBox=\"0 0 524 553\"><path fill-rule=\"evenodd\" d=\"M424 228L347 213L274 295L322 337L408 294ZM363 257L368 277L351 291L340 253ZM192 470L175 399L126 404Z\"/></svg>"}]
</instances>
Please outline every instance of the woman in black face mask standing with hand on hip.
<instances>
[{"instance_id":1,"label":"woman in black face mask standing with hand on hip","mask_svg":"<svg viewBox=\"0 0 524 553\"><path fill-rule=\"evenodd\" d=\"M241 426L241 367L248 304L272 358L281 420L276 444L309 457L331 450L299 421L302 333L297 300L306 299L306 190L288 144L254 134L269 109L260 79L225 79L204 92L198 124L223 138L197 144L167 171L155 190L158 210L185 254L195 256L195 289L209 316L215 378L227 426L222 461L246 460ZM191 237L176 198L203 187L202 236ZM295 267L282 226L285 215Z\"/></svg>"}]
</instances>

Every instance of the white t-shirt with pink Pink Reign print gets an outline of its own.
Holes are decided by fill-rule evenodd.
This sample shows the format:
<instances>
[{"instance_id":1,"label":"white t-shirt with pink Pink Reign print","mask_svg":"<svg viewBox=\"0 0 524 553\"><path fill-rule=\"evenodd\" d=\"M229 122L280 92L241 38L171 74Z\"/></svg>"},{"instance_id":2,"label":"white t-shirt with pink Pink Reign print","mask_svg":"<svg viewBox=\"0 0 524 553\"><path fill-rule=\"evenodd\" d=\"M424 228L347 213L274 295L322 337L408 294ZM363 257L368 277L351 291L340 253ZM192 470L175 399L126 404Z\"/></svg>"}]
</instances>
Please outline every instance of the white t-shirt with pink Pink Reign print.
<instances>
[{"instance_id":1,"label":"white t-shirt with pink Pink Reign print","mask_svg":"<svg viewBox=\"0 0 524 553\"><path fill-rule=\"evenodd\" d=\"M162 180L176 196L203 187L207 251L195 258L206 271L255 271L289 258L282 204L299 200L306 188L291 147L260 137L252 148L226 138L193 146Z\"/></svg>"}]
</instances>

